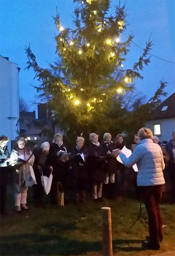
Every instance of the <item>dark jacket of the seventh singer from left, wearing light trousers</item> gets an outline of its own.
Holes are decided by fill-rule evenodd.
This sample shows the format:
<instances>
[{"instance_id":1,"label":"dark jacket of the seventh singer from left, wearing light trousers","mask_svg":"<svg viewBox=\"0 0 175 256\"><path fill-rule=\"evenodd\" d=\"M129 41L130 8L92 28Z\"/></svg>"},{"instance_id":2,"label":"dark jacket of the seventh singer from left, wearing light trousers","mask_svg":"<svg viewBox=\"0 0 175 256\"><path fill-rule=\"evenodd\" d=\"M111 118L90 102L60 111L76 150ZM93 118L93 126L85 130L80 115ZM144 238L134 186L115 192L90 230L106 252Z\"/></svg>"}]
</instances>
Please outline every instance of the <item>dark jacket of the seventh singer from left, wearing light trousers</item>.
<instances>
[{"instance_id":1,"label":"dark jacket of the seventh singer from left, wearing light trousers","mask_svg":"<svg viewBox=\"0 0 175 256\"><path fill-rule=\"evenodd\" d=\"M111 151L117 149L117 146L114 143L107 144L106 142L103 142L101 144L103 151L104 151L104 155L106 156L106 171L110 174L114 174L116 173L117 169L118 169L118 161L116 158L114 157L110 157L111 154L107 154L107 151Z\"/></svg>"}]
</instances>

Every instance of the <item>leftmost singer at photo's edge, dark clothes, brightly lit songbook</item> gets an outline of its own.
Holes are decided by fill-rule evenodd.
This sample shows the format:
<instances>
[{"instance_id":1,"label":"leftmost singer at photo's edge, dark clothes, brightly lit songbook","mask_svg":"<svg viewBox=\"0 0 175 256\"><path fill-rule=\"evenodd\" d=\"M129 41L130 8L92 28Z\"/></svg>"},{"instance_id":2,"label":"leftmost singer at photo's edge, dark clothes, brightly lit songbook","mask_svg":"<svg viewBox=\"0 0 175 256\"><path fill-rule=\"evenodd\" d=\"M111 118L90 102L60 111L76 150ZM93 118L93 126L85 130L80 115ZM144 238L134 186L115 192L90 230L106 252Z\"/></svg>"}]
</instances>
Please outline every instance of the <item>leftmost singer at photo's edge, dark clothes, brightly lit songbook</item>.
<instances>
[{"instance_id":1,"label":"leftmost singer at photo's edge, dark clothes, brightly lit songbook","mask_svg":"<svg viewBox=\"0 0 175 256\"><path fill-rule=\"evenodd\" d=\"M8 148L6 146L9 139L2 135L0 136L0 211L1 214L6 214L6 191L8 184L8 173L9 167L7 164L9 163L9 153Z\"/></svg>"}]
</instances>

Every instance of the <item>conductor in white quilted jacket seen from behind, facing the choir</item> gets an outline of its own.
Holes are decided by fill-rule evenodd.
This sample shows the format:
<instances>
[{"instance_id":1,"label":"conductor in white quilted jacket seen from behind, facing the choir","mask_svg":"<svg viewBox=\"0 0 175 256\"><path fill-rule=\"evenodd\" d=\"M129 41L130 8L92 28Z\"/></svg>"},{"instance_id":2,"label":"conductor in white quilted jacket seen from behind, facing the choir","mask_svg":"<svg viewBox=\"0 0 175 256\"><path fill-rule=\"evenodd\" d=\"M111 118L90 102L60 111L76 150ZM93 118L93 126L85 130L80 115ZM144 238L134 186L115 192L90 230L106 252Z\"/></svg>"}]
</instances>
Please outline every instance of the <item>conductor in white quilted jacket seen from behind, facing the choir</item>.
<instances>
[{"instance_id":1,"label":"conductor in white quilted jacket seen from behind, facing the choir","mask_svg":"<svg viewBox=\"0 0 175 256\"><path fill-rule=\"evenodd\" d=\"M163 177L165 163L161 148L152 141L152 131L142 127L138 135L140 142L130 157L127 158L121 152L119 152L119 156L125 166L129 168L135 163L138 164L137 185L140 187L141 196L148 213L149 226L149 241L145 241L143 246L159 250L160 242L163 240L160 201L162 187L165 184Z\"/></svg>"}]
</instances>

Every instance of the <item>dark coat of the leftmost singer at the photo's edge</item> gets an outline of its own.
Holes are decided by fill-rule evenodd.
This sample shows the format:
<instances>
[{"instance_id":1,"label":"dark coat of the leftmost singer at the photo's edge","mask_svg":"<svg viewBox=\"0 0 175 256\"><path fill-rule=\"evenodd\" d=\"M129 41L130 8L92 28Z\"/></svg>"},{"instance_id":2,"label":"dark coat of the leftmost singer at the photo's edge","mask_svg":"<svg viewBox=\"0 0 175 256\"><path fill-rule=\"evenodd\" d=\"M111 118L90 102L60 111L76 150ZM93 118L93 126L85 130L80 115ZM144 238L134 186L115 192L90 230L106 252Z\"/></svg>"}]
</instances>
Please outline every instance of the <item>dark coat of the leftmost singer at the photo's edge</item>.
<instances>
[{"instance_id":1,"label":"dark coat of the leftmost singer at the photo's edge","mask_svg":"<svg viewBox=\"0 0 175 256\"><path fill-rule=\"evenodd\" d=\"M8 148L7 146L4 147L3 153L0 151L0 183L1 185L7 185L8 184L8 176L9 176L9 167L2 165L5 163L5 159L9 157Z\"/></svg>"}]
</instances>

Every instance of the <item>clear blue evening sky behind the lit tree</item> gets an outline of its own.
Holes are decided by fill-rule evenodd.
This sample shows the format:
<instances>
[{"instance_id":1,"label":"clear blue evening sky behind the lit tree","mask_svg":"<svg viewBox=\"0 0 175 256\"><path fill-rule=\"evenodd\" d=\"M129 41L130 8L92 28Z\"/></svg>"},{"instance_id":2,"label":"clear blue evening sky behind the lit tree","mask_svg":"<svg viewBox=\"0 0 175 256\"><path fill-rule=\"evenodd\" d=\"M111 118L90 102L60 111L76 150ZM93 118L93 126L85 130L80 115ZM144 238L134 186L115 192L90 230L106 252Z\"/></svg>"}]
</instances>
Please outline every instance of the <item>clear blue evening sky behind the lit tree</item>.
<instances>
[{"instance_id":1,"label":"clear blue evening sky behind the lit tree","mask_svg":"<svg viewBox=\"0 0 175 256\"><path fill-rule=\"evenodd\" d=\"M151 54L159 58L175 62L175 1L174 0L128 0L120 1L121 5L126 3L128 9L128 25L125 35L132 33L135 35L133 41L141 48L145 47L150 34L154 45ZM110 13L114 14L114 5L118 5L118 0L112 0ZM0 54L9 57L9 61L17 63L21 68L19 73L20 96L29 104L30 111L37 107L32 104L38 101L37 92L30 84L39 85L37 80L33 80L34 71L24 70L27 62L25 45L30 47L36 56L38 65L47 68L48 62L53 63L58 60L55 54L56 43L55 34L58 33L54 25L52 16L56 15L56 6L60 13L62 26L73 28L72 12L75 5L73 0L1 0L0 1ZM72 14L73 15L73 14ZM120 40L126 38L121 35ZM142 50L133 43L124 69L131 68L138 60ZM153 96L159 81L164 78L168 82L166 91L168 96L175 91L175 65L151 57L151 63L144 67L144 80L135 81L135 87L139 94L146 95L146 100ZM165 98L163 98L165 99Z\"/></svg>"}]
</instances>

